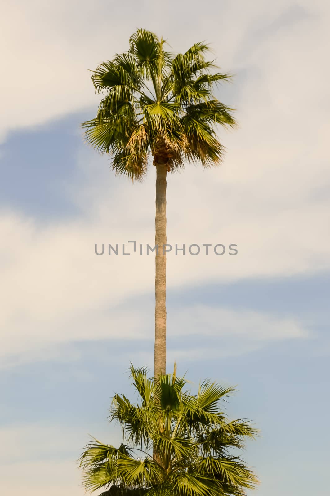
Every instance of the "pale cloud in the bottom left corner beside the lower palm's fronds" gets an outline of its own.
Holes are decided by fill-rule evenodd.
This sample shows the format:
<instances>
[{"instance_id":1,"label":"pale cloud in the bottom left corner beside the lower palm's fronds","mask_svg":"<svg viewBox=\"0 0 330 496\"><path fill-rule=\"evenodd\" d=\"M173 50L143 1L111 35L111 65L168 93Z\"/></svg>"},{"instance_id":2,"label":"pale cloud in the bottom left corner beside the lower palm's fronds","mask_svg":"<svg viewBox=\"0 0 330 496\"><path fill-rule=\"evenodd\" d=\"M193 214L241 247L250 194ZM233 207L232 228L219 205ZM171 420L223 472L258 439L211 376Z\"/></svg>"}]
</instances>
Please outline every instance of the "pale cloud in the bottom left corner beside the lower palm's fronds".
<instances>
[{"instance_id":1,"label":"pale cloud in the bottom left corner beside the lower palm's fronds","mask_svg":"<svg viewBox=\"0 0 330 496\"><path fill-rule=\"evenodd\" d=\"M81 419L80 419L81 420ZM1 494L78 496L84 494L77 459L91 440L119 446L120 427L91 425L10 425L0 429Z\"/></svg>"}]
</instances>

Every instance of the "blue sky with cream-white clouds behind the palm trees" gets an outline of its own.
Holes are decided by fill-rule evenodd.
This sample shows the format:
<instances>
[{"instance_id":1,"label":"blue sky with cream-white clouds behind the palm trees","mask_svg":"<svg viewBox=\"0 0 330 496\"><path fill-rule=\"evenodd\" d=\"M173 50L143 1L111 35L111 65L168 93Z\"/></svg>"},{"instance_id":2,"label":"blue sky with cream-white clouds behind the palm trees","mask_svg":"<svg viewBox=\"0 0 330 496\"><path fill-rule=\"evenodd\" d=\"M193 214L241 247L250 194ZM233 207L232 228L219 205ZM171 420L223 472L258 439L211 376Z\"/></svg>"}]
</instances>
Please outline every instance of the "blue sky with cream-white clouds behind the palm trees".
<instances>
[{"instance_id":1,"label":"blue sky with cream-white clouds behind the palm trees","mask_svg":"<svg viewBox=\"0 0 330 496\"><path fill-rule=\"evenodd\" d=\"M154 259L138 247L154 246L155 170L115 177L79 127L98 105L88 69L139 27L175 52L210 43L239 123L220 168L168 177L168 243L186 246L168 253L168 371L237 386L229 417L261 429L244 453L256 495L328 494L329 21L325 0L4 5L1 494L83 495L88 435L121 442L111 397L132 394L130 360L152 370Z\"/></svg>"}]
</instances>

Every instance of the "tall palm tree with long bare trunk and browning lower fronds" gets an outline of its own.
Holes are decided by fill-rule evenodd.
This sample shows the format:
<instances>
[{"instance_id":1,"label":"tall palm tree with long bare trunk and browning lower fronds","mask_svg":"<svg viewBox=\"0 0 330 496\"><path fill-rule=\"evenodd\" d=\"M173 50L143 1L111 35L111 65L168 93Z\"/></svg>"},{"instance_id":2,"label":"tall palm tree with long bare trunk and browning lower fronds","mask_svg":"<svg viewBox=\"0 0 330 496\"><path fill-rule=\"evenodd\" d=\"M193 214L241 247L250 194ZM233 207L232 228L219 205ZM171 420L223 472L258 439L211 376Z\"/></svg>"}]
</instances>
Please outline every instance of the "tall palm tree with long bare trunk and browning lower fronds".
<instances>
[{"instance_id":1,"label":"tall palm tree with long bare trunk and browning lower fronds","mask_svg":"<svg viewBox=\"0 0 330 496\"><path fill-rule=\"evenodd\" d=\"M174 56L165 42L144 29L130 38L130 49L93 72L103 93L95 119L82 124L87 141L110 154L112 169L142 180L149 157L156 167L155 355L154 377L166 372L166 176L186 161L218 165L223 147L217 126L234 126L229 109L213 95L228 74L205 60L208 46L196 43Z\"/></svg>"}]
</instances>

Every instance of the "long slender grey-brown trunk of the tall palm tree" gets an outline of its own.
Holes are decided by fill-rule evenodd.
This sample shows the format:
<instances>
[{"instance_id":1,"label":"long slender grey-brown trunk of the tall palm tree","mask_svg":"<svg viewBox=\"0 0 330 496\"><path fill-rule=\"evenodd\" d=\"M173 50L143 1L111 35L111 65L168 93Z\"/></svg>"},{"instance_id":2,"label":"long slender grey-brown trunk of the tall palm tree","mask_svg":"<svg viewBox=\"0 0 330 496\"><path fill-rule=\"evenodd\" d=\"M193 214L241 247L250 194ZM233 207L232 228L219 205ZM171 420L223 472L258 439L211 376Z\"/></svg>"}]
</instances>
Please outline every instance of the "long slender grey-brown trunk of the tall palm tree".
<instances>
[{"instance_id":1,"label":"long slender grey-brown trunk of the tall palm tree","mask_svg":"<svg viewBox=\"0 0 330 496\"><path fill-rule=\"evenodd\" d=\"M166 165L156 164L155 378L166 373L166 174Z\"/></svg>"}]
</instances>

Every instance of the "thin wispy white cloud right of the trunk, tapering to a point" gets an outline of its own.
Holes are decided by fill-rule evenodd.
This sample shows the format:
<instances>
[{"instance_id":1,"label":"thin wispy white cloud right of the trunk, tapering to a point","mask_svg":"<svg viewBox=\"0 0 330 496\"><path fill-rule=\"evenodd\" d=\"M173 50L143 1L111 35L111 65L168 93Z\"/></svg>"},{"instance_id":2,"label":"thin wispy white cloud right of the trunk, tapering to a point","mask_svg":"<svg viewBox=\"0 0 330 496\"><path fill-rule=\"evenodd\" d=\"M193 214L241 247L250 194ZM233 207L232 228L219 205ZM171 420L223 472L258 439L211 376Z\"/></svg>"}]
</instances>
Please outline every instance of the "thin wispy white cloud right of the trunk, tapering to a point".
<instances>
[{"instance_id":1,"label":"thin wispy white cloud right of the trunk, tapering to a point","mask_svg":"<svg viewBox=\"0 0 330 496\"><path fill-rule=\"evenodd\" d=\"M189 337L184 348L168 350L169 361L178 363L237 357L278 341L311 337L292 317L206 305L179 310L168 319L168 329L169 337ZM197 346L198 337L203 344Z\"/></svg>"}]
</instances>

